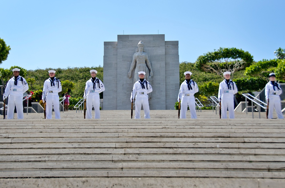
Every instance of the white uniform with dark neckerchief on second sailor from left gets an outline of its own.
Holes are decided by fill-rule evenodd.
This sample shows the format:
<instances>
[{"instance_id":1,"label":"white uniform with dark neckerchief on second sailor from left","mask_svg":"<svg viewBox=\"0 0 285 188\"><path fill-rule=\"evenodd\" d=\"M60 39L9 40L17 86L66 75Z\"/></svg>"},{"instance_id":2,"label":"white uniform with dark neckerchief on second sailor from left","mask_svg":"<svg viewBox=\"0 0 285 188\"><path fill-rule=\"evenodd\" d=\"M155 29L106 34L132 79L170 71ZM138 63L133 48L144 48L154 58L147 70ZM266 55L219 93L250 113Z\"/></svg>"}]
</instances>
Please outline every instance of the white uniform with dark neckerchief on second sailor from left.
<instances>
[{"instance_id":1,"label":"white uniform with dark neckerchief on second sailor from left","mask_svg":"<svg viewBox=\"0 0 285 188\"><path fill-rule=\"evenodd\" d=\"M48 78L44 81L42 100L46 101L46 119L52 118L52 105L54 106L55 118L60 119L58 93L61 92L61 90L61 82L58 78L54 77L53 81L51 78Z\"/></svg>"}]
</instances>

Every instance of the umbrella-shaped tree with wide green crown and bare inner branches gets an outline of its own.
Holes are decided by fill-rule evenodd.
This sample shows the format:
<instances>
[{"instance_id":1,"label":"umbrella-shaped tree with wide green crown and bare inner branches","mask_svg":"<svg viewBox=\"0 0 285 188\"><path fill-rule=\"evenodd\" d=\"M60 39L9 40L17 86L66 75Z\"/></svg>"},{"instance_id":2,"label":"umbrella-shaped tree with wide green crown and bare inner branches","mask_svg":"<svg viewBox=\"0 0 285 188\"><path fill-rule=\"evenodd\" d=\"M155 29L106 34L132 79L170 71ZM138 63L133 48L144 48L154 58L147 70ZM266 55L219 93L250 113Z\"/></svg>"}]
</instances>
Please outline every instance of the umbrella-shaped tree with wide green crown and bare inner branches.
<instances>
[{"instance_id":1,"label":"umbrella-shaped tree with wide green crown and bare inner branches","mask_svg":"<svg viewBox=\"0 0 285 188\"><path fill-rule=\"evenodd\" d=\"M248 51L237 48L219 48L199 56L195 66L201 71L216 73L223 78L223 72L233 73L250 66L253 56Z\"/></svg>"}]
</instances>

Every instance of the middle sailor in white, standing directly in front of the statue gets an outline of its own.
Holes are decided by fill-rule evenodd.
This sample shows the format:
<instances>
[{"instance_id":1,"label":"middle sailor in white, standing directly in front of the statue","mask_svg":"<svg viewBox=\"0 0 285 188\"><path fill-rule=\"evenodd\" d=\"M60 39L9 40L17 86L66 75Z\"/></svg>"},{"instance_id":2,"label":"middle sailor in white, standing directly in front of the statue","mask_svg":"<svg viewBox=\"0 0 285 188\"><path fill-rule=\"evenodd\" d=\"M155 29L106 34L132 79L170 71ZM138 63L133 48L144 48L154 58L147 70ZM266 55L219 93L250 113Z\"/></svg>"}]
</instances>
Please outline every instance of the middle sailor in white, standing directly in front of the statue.
<instances>
[{"instance_id":1,"label":"middle sailor in white, standing directly in front of the statue","mask_svg":"<svg viewBox=\"0 0 285 188\"><path fill-rule=\"evenodd\" d=\"M144 75L146 74L144 71L140 71L139 73L139 80L135 82L133 91L131 93L131 101L135 98L135 119L141 118L141 106L143 105L144 110L144 118L150 118L149 112L149 105L148 105L148 93L152 92L152 87L150 83L144 80Z\"/></svg>"}]
</instances>

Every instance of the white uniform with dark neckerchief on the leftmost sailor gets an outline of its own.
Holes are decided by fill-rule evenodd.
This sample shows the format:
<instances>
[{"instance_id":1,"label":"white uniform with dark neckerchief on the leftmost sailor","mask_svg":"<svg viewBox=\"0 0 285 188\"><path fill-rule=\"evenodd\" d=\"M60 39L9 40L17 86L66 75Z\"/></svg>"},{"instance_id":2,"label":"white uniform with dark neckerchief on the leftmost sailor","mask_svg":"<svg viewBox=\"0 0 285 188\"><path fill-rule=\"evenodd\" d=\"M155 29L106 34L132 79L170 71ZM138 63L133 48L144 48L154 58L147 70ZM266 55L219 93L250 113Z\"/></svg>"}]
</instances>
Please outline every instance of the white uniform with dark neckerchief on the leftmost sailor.
<instances>
[{"instance_id":1,"label":"white uniform with dark neckerchief on the leftmost sailor","mask_svg":"<svg viewBox=\"0 0 285 188\"><path fill-rule=\"evenodd\" d=\"M17 118L24 119L23 93L25 93L28 89L28 83L22 76L18 76L16 79L15 76L13 76L13 78L8 81L3 95L4 99L9 96L7 119L14 118L15 106L17 109Z\"/></svg>"}]
</instances>

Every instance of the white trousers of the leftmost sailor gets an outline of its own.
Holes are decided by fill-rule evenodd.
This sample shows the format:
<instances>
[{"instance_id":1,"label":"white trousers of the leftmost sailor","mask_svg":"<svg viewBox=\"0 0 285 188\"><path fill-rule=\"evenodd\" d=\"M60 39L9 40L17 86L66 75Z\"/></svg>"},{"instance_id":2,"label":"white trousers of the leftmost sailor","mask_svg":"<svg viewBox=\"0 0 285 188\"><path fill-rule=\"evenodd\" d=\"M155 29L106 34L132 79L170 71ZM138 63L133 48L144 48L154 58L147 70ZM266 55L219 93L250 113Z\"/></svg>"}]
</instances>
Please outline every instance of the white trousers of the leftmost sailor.
<instances>
[{"instance_id":1,"label":"white trousers of the leftmost sailor","mask_svg":"<svg viewBox=\"0 0 285 188\"><path fill-rule=\"evenodd\" d=\"M14 118L15 106L17 109L17 119L24 119L23 112L23 95L13 95L10 93L8 100L8 110L7 110L7 119Z\"/></svg>"}]
</instances>

